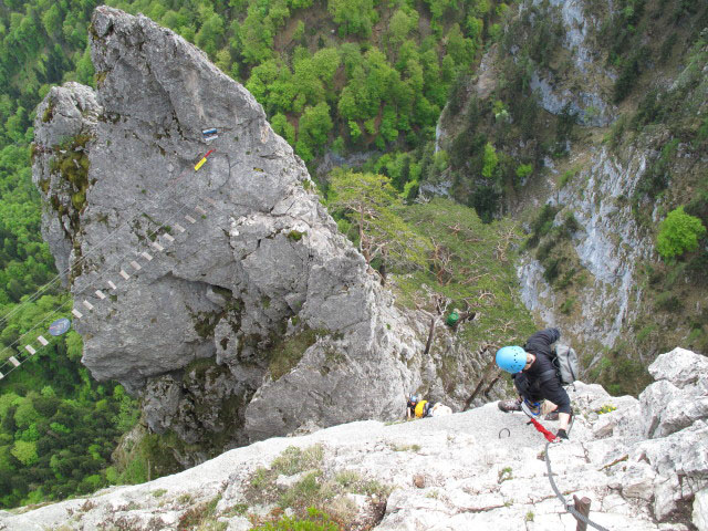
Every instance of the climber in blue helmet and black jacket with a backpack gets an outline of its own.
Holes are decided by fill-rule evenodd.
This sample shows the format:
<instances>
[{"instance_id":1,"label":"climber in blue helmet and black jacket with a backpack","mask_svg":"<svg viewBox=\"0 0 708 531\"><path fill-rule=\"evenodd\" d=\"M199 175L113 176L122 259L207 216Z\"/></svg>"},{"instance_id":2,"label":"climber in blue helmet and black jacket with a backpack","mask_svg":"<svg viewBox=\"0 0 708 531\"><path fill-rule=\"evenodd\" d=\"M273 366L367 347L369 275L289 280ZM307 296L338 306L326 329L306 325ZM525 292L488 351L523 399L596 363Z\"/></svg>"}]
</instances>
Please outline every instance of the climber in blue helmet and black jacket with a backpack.
<instances>
[{"instance_id":1,"label":"climber in blue helmet and black jacket with a backpack","mask_svg":"<svg viewBox=\"0 0 708 531\"><path fill-rule=\"evenodd\" d=\"M548 400L554 404L550 415L558 415L558 437L568 439L571 399L562 387L552 362L552 345L560 336L558 329L545 329L529 337L523 347L504 346L497 351L497 365L511 373L513 385L520 395L519 399L500 402L499 408L502 412L524 409L527 414L537 416L541 413L541 402Z\"/></svg>"}]
</instances>

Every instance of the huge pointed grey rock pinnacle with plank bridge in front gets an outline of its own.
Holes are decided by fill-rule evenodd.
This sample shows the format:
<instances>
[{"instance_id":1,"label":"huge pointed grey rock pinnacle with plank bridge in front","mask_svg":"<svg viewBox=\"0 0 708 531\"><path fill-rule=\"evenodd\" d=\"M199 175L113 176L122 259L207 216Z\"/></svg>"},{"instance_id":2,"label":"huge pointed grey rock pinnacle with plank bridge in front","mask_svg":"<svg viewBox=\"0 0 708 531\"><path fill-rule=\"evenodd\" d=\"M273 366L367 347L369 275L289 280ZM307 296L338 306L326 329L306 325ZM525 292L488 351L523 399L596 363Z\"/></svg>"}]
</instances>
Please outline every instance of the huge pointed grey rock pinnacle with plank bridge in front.
<instances>
[{"instance_id":1,"label":"huge pointed grey rock pinnacle with plank bridge in front","mask_svg":"<svg viewBox=\"0 0 708 531\"><path fill-rule=\"evenodd\" d=\"M145 17L97 8L91 35L97 90L52 88L33 173L92 374L188 442L398 418L418 334L262 107Z\"/></svg>"}]
</instances>

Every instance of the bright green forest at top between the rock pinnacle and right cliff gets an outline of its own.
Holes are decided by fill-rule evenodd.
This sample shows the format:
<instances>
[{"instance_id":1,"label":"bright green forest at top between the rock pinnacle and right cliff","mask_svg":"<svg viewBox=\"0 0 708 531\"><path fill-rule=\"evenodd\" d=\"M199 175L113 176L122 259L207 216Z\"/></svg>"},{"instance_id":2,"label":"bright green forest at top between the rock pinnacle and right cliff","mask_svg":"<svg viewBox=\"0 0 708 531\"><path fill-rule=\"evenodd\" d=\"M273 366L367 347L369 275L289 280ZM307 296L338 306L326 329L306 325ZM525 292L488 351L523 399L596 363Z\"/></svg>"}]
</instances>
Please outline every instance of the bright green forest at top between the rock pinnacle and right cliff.
<instances>
[{"instance_id":1,"label":"bright green forest at top between the rock pinnacle and right cliff","mask_svg":"<svg viewBox=\"0 0 708 531\"><path fill-rule=\"evenodd\" d=\"M429 140L449 87L507 10L488 0L108 3L205 50L305 162L330 147L405 150Z\"/></svg>"}]
</instances>

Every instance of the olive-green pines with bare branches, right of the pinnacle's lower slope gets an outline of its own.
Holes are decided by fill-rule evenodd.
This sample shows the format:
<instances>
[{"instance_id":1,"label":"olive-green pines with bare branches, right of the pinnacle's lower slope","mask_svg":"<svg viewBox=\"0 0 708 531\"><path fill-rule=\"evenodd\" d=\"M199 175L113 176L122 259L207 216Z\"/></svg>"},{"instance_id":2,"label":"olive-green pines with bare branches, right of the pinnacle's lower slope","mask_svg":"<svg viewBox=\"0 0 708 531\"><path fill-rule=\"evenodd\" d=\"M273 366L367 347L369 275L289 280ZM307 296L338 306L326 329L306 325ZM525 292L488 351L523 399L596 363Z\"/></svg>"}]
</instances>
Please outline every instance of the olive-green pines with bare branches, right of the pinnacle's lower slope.
<instances>
[{"instance_id":1,"label":"olive-green pines with bare branches, right of the pinnacle's lower slope","mask_svg":"<svg viewBox=\"0 0 708 531\"><path fill-rule=\"evenodd\" d=\"M470 351L482 343L523 341L533 332L531 315L509 289L517 284L514 262L523 238L518 226L511 220L483 223L475 210L442 198L407 207L404 218L434 247L425 270L395 274L399 304L436 313L433 300L440 295L449 301L448 310L476 312L475 326L462 325L460 332ZM458 377L459 371L451 369L446 385Z\"/></svg>"}]
</instances>

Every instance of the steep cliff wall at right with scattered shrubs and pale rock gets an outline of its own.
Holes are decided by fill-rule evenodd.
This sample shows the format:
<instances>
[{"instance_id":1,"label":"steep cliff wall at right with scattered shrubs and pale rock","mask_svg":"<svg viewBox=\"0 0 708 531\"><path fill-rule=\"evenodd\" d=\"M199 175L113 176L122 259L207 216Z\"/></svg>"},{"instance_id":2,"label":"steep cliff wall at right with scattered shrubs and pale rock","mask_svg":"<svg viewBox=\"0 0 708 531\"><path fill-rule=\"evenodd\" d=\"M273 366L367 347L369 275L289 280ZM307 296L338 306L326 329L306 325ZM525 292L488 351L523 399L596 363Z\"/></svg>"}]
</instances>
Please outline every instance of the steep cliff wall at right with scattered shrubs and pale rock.
<instances>
[{"instance_id":1,"label":"steep cliff wall at right with scattered shrubs and pale rock","mask_svg":"<svg viewBox=\"0 0 708 531\"><path fill-rule=\"evenodd\" d=\"M525 305L581 346L589 378L632 393L667 345L708 345L706 241L655 251L674 208L708 222L707 10L635 8L522 2L441 116L450 168L421 185L521 221Z\"/></svg>"}]
</instances>

